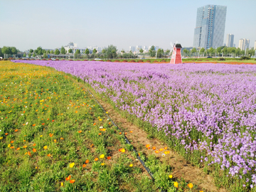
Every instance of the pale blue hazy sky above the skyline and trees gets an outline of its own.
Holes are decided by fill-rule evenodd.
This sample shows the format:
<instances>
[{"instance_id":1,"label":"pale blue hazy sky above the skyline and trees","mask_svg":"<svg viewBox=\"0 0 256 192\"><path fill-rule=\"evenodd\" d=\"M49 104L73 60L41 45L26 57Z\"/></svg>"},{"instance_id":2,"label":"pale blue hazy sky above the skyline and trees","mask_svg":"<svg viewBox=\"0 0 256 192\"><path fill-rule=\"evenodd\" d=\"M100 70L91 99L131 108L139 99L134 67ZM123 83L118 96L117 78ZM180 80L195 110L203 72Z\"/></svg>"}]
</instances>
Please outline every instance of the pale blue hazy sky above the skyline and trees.
<instances>
[{"instance_id":1,"label":"pale blue hazy sky above the skyline and trees","mask_svg":"<svg viewBox=\"0 0 256 192\"><path fill-rule=\"evenodd\" d=\"M225 37L256 41L256 0L0 0L0 47L59 48L193 46L196 11L207 4L227 6Z\"/></svg>"}]
</instances>

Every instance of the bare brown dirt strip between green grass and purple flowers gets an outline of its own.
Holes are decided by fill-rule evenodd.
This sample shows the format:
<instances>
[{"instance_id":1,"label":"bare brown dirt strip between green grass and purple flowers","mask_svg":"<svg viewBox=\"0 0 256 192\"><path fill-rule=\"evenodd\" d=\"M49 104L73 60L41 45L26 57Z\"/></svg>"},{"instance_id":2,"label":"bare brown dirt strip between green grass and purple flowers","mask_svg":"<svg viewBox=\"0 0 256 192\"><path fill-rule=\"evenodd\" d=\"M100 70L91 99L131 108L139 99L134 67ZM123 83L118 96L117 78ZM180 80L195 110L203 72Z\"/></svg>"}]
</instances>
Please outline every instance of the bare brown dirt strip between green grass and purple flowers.
<instances>
[{"instance_id":1,"label":"bare brown dirt strip between green grass and purple flowers","mask_svg":"<svg viewBox=\"0 0 256 192\"><path fill-rule=\"evenodd\" d=\"M88 89L85 87L85 84L79 83L81 87ZM191 182L196 184L198 188L206 191L218 191L218 192L225 192L227 191L225 188L218 189L214 184L213 176L205 174L203 169L198 168L197 166L192 166L189 164L183 156L177 154L175 151L169 150L170 154L166 155L165 157L161 156L161 152L156 154L152 149L146 149L146 144L150 144L150 147L155 146L156 149L164 149L167 145L163 142L159 141L159 139L148 139L147 133L144 130L140 129L136 125L132 124L131 122L127 121L121 114L119 114L113 107L102 100L102 98L97 97L95 92L89 89L93 96L100 102L100 105L108 112L110 118L114 121L115 124L118 125L119 128L122 129L122 132L127 132L127 139L129 142L134 146L137 151L143 151L147 156L150 154L156 155L161 162L166 161L172 167L172 174L176 178L184 178L186 182ZM132 133L131 133L132 131ZM138 162L139 164L139 162ZM143 166L140 166L143 167ZM143 168L144 169L144 168ZM145 173L146 170L143 172Z\"/></svg>"}]
</instances>

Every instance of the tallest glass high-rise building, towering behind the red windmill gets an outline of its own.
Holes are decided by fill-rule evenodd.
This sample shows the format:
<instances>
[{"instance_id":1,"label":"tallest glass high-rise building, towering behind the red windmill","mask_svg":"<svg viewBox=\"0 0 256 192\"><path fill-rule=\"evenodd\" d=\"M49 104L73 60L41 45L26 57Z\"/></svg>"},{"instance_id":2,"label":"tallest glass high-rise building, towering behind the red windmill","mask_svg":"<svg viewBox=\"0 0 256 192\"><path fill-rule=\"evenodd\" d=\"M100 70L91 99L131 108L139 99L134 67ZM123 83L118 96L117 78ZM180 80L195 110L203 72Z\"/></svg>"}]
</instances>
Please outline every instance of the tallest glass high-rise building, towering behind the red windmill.
<instances>
[{"instance_id":1,"label":"tallest glass high-rise building, towering behind the red windmill","mask_svg":"<svg viewBox=\"0 0 256 192\"><path fill-rule=\"evenodd\" d=\"M199 7L193 38L194 48L223 46L227 6L206 5Z\"/></svg>"}]
</instances>

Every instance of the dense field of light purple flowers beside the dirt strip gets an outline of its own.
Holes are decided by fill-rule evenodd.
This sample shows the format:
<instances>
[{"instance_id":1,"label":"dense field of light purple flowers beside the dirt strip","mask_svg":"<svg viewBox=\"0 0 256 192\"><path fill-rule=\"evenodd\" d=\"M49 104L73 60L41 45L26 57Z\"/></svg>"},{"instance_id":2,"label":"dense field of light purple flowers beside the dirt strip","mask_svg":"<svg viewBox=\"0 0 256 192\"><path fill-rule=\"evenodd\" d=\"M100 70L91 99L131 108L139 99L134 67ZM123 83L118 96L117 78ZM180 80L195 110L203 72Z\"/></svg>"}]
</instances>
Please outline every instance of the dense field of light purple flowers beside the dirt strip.
<instances>
[{"instance_id":1,"label":"dense field of light purple flowers beside the dirt strip","mask_svg":"<svg viewBox=\"0 0 256 192\"><path fill-rule=\"evenodd\" d=\"M205 164L256 185L256 65L13 60L82 78Z\"/></svg>"}]
</instances>

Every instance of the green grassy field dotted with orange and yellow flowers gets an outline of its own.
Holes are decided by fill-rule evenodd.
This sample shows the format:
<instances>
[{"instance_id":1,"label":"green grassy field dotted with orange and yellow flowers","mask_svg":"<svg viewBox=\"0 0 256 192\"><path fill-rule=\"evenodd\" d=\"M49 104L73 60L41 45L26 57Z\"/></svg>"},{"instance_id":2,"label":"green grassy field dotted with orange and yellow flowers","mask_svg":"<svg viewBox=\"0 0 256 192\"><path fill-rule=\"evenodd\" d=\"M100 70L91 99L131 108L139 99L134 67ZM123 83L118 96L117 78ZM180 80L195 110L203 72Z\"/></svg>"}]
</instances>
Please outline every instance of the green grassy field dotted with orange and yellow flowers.
<instances>
[{"instance_id":1,"label":"green grassy field dotted with orange and yellow flowers","mask_svg":"<svg viewBox=\"0 0 256 192\"><path fill-rule=\"evenodd\" d=\"M153 182L124 142L137 133L114 127L70 75L10 61L0 74L0 191L200 190L139 151Z\"/></svg>"}]
</instances>

